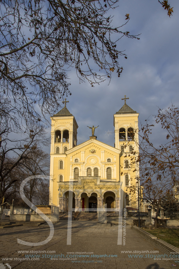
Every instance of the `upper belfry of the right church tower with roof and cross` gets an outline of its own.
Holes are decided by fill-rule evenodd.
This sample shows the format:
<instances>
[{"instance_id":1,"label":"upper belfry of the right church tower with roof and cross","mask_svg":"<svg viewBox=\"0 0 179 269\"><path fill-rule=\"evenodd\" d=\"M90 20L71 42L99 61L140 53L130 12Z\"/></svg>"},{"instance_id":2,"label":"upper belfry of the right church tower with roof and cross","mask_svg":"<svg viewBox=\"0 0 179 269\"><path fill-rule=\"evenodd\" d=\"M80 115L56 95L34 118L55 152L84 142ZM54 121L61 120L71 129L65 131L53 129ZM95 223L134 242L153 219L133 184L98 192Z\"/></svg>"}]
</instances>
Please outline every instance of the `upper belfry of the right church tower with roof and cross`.
<instances>
[{"instance_id":1,"label":"upper belfry of the right church tower with roof and cross","mask_svg":"<svg viewBox=\"0 0 179 269\"><path fill-rule=\"evenodd\" d=\"M115 127L115 148L120 149L122 152L132 152L133 148L138 151L137 144L138 137L138 116L139 113L134 111L126 104L126 95L124 105L114 114L114 127ZM137 132L136 132L137 131Z\"/></svg>"}]
</instances>

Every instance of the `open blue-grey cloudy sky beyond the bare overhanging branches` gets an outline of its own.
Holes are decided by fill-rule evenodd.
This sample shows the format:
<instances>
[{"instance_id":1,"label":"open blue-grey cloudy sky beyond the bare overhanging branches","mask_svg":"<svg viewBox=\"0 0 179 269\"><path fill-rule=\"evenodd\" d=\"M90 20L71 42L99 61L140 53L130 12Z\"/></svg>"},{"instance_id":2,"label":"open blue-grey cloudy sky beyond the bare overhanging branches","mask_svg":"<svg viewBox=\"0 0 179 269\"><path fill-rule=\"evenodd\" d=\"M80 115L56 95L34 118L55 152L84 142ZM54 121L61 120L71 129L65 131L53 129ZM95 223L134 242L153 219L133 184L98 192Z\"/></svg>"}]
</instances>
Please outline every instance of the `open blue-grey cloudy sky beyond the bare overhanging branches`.
<instances>
[{"instance_id":1,"label":"open blue-grey cloudy sky beyond the bare overhanging branches","mask_svg":"<svg viewBox=\"0 0 179 269\"><path fill-rule=\"evenodd\" d=\"M110 85L106 80L91 87L88 82L79 84L75 70L69 72L72 95L67 98L67 108L79 126L78 144L91 135L87 125L99 125L95 131L97 139L114 146L114 133L108 136L106 131L114 132L113 114L123 106L121 98L125 94L141 123L148 118L153 123L152 115L158 107L165 109L171 102L179 106L179 2L168 1L174 7L171 18L157 0L119 1L119 7L113 11L113 25L125 23L125 14L129 13L130 20L122 31L141 33L140 40L124 37L117 44L118 50L127 54L127 59L119 58L124 69L120 78L113 72ZM156 145L161 143L161 137L164 136L157 126L152 137Z\"/></svg>"}]
</instances>

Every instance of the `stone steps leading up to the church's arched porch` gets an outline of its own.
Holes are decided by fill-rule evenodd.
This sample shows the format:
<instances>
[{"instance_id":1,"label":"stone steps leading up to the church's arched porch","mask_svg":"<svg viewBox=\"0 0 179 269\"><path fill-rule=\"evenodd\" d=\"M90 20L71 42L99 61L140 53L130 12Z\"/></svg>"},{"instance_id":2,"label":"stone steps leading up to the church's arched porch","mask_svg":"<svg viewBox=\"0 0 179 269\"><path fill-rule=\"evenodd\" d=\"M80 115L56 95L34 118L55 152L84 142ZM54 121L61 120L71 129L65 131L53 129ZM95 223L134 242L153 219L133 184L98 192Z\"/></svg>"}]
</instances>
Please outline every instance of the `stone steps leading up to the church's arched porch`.
<instances>
[{"instance_id":1,"label":"stone steps leading up to the church's arched porch","mask_svg":"<svg viewBox=\"0 0 179 269\"><path fill-rule=\"evenodd\" d=\"M72 212L72 220L74 220L74 212ZM68 213L60 213L59 214L60 220L68 220ZM85 220L85 221L98 221L98 214L97 213L88 213L88 212L80 212L78 218L75 220Z\"/></svg>"}]
</instances>

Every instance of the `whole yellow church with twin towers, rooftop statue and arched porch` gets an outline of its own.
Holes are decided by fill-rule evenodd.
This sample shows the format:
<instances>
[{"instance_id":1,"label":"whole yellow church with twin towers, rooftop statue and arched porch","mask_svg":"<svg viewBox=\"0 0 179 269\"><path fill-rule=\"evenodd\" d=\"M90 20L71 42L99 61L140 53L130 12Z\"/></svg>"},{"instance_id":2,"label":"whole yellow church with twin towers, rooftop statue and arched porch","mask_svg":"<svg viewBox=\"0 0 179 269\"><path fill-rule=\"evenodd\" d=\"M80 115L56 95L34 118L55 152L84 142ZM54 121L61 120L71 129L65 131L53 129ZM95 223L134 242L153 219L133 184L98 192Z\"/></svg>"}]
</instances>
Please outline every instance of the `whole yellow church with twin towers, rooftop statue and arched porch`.
<instances>
[{"instance_id":1,"label":"whole yellow church with twin towers, rooftop statue and arched porch","mask_svg":"<svg viewBox=\"0 0 179 269\"><path fill-rule=\"evenodd\" d=\"M138 153L138 116L126 104L114 114L114 147L97 140L90 127L90 139L77 145L75 117L65 106L52 118L50 152L50 203L61 212L90 212L107 208L138 208L127 187L136 182L138 171L130 169L133 152ZM123 100L123 99L122 99ZM91 131L90 131L91 132ZM72 192L72 203L69 202ZM72 204L72 207L70 206Z\"/></svg>"}]
</instances>

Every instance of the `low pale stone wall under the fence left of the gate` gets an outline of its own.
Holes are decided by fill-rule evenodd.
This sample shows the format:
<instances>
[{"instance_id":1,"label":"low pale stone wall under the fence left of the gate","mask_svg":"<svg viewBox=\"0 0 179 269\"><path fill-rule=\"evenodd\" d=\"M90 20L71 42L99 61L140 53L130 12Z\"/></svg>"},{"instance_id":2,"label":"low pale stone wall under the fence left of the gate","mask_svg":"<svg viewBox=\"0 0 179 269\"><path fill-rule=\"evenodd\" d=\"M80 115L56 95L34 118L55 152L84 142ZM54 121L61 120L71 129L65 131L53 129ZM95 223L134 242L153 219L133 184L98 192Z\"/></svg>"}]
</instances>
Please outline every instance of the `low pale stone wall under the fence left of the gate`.
<instances>
[{"instance_id":1,"label":"low pale stone wall under the fence left of the gate","mask_svg":"<svg viewBox=\"0 0 179 269\"><path fill-rule=\"evenodd\" d=\"M51 220L51 215L46 215ZM10 221L44 221L38 214L12 214Z\"/></svg>"}]
</instances>

